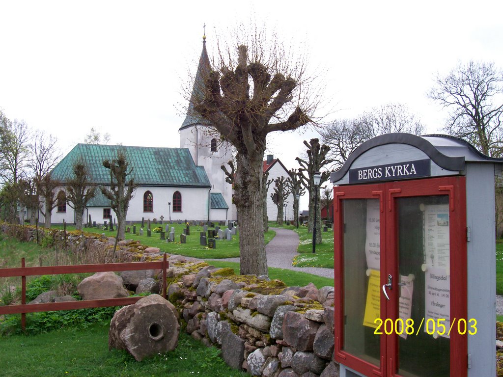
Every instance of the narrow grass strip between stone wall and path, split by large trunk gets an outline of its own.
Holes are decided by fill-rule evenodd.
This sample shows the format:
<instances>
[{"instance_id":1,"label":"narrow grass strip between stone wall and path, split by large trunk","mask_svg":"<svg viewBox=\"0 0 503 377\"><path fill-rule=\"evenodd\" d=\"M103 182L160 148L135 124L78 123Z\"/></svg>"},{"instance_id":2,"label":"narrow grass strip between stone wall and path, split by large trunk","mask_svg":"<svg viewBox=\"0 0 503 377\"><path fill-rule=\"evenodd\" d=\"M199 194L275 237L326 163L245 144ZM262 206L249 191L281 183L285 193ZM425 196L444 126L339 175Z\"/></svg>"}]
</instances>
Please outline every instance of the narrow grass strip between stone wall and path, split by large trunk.
<instances>
[{"instance_id":1,"label":"narrow grass strip between stone wall and path, split by large trunk","mask_svg":"<svg viewBox=\"0 0 503 377\"><path fill-rule=\"evenodd\" d=\"M237 262L208 260L208 263L213 264L215 267L231 267L234 269L234 272L236 274L239 274L239 263ZM308 285L310 282L312 282L318 289L324 286L333 287L333 279L329 279L327 277L275 267L269 267L268 270L269 270L269 277L271 279L280 279L288 287L293 286L303 287Z\"/></svg>"}]
</instances>

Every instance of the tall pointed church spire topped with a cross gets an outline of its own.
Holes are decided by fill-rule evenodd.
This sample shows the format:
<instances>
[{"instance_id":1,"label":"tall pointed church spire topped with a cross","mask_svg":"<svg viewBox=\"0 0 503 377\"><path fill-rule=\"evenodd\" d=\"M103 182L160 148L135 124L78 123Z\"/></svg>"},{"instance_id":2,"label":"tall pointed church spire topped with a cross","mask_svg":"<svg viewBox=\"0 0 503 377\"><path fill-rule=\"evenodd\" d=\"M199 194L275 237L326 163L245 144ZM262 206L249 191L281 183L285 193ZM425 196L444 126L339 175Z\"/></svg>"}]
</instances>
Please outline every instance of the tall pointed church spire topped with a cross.
<instances>
[{"instance_id":1,"label":"tall pointed church spire topped with a cross","mask_svg":"<svg viewBox=\"0 0 503 377\"><path fill-rule=\"evenodd\" d=\"M192 88L192 95L189 102L189 109L187 110L187 116L185 117L180 130L196 125L209 125L209 122L201 117L201 115L199 115L194 109L194 103L196 101L201 101L202 99L205 78L211 71L210 59L208 58L208 52L206 51L206 25L204 25L203 28L203 51L201 52L201 57L199 58L199 66L197 67L196 78L194 79L194 87Z\"/></svg>"}]
</instances>

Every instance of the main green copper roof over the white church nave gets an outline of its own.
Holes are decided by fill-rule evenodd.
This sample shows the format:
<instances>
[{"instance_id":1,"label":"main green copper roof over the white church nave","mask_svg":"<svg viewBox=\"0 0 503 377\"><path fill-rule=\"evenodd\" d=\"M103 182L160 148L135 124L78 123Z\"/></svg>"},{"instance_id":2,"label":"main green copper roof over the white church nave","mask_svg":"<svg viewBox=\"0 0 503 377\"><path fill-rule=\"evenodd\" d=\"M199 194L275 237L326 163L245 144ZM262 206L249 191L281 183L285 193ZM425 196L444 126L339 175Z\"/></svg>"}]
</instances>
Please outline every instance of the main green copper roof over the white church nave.
<instances>
[{"instance_id":1,"label":"main green copper roof over the white church nave","mask_svg":"<svg viewBox=\"0 0 503 377\"><path fill-rule=\"evenodd\" d=\"M52 170L52 176L61 181L70 178L72 165L81 156L88 164L91 182L109 184L110 170L103 166L103 161L116 158L119 149L125 151L140 185L211 186L204 167L196 166L187 148L77 144Z\"/></svg>"}]
</instances>

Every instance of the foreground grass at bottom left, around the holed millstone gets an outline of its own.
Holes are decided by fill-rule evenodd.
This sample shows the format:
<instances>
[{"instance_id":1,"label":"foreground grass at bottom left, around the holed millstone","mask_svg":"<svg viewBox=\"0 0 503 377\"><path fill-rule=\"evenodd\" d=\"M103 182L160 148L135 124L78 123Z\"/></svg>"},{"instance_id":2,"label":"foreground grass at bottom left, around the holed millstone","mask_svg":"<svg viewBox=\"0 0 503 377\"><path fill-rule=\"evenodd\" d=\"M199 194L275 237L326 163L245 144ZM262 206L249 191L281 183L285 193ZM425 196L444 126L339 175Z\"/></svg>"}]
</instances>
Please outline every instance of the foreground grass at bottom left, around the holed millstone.
<instances>
[{"instance_id":1,"label":"foreground grass at bottom left, around the holed millstone","mask_svg":"<svg viewBox=\"0 0 503 377\"><path fill-rule=\"evenodd\" d=\"M143 377L249 375L231 369L216 347L206 347L184 331L178 347L137 362L123 350L108 350L109 326L65 328L38 335L0 337L2 375L16 377Z\"/></svg>"}]
</instances>

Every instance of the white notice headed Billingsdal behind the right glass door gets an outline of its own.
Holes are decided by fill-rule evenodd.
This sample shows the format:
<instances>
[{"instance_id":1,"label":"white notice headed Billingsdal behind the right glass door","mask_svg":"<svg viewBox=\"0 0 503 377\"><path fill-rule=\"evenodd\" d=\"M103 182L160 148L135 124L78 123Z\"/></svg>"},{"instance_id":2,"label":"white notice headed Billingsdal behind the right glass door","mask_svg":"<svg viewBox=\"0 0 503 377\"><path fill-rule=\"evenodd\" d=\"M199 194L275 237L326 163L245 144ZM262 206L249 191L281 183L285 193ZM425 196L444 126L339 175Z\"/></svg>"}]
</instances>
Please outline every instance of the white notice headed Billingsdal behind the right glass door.
<instances>
[{"instance_id":1,"label":"white notice headed Billingsdal behind the right glass door","mask_svg":"<svg viewBox=\"0 0 503 377\"><path fill-rule=\"evenodd\" d=\"M445 321L440 321L445 325L445 334L440 335L445 338L449 338L448 330L451 327L451 279L450 276L445 272L445 268L428 268L425 272L425 332L427 332L428 319L432 318L437 325L437 320L442 319ZM431 322L431 321L430 321ZM432 328L430 326L430 333L437 326Z\"/></svg>"}]
</instances>

